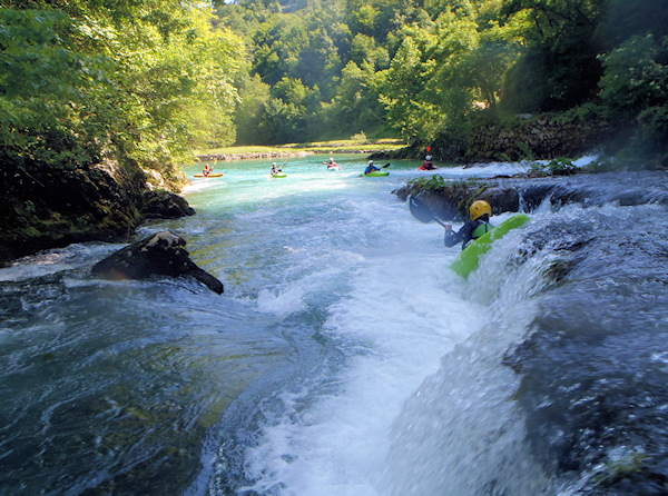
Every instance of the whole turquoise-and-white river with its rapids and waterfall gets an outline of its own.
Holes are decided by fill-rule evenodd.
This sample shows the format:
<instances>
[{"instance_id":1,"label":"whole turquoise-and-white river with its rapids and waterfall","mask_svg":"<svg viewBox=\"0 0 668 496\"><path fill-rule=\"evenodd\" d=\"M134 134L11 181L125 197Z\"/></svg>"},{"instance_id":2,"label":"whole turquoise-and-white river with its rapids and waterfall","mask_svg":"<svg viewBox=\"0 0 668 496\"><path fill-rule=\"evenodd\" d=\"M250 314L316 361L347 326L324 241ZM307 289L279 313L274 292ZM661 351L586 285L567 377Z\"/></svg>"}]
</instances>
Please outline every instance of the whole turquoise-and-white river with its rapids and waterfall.
<instances>
[{"instance_id":1,"label":"whole turquoise-and-white river with its rapids and waterfall","mask_svg":"<svg viewBox=\"0 0 668 496\"><path fill-rule=\"evenodd\" d=\"M667 176L557 180L466 281L392 191L527 166L335 158L218 162L140 229L223 296L90 276L125 245L0 269L0 494L666 494Z\"/></svg>"}]
</instances>

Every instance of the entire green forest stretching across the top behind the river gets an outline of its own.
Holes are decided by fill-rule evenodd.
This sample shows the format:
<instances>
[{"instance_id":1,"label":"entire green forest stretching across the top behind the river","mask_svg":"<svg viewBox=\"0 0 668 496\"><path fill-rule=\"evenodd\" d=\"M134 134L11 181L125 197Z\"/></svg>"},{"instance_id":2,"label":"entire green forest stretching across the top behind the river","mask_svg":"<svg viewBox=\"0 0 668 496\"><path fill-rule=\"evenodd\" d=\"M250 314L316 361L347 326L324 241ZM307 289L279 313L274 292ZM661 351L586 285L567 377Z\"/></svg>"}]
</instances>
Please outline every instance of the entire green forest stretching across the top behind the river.
<instances>
[{"instance_id":1,"label":"entire green forest stretching across the top behind the river","mask_svg":"<svg viewBox=\"0 0 668 496\"><path fill-rule=\"evenodd\" d=\"M2 0L0 66L19 166L169 176L195 149L354 135L454 159L544 116L668 160L665 0Z\"/></svg>"}]
</instances>

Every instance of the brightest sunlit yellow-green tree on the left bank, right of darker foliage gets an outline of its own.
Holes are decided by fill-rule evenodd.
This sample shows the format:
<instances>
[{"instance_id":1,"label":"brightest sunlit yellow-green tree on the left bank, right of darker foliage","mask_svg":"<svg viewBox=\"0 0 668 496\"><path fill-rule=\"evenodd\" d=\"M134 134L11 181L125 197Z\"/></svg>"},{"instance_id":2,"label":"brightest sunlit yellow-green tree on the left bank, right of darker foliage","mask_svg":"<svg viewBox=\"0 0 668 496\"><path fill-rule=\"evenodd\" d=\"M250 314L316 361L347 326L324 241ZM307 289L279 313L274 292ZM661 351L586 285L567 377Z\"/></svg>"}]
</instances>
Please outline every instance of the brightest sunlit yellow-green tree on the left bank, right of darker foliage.
<instances>
[{"instance_id":1,"label":"brightest sunlit yellow-green tree on the left bank, right of darker foliage","mask_svg":"<svg viewBox=\"0 0 668 496\"><path fill-rule=\"evenodd\" d=\"M237 98L232 85L243 52L233 34L213 30L208 16L181 12L187 29L165 37L147 23L126 26L117 33L117 85L132 129L141 129L134 151L166 160L193 147L234 141L232 116Z\"/></svg>"}]
</instances>

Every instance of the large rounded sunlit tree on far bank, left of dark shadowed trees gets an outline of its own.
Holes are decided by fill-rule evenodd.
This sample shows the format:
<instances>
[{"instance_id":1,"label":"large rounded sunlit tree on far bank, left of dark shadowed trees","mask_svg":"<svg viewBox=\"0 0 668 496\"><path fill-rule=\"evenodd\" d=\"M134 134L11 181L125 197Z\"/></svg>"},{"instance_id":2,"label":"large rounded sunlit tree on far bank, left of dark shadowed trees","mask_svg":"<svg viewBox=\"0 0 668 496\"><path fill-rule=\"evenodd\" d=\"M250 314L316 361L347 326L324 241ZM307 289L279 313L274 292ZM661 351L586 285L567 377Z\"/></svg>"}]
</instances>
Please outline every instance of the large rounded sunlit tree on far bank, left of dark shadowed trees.
<instances>
[{"instance_id":1,"label":"large rounded sunlit tree on far bank, left of dark shadowed trees","mask_svg":"<svg viewBox=\"0 0 668 496\"><path fill-rule=\"evenodd\" d=\"M519 46L510 29L489 18L478 23L480 6L445 3L433 22L402 30L402 44L382 72L380 98L403 137L439 142L455 156L468 147L473 113L497 115L503 76ZM489 6L484 13L490 16Z\"/></svg>"}]
</instances>

